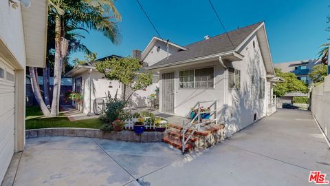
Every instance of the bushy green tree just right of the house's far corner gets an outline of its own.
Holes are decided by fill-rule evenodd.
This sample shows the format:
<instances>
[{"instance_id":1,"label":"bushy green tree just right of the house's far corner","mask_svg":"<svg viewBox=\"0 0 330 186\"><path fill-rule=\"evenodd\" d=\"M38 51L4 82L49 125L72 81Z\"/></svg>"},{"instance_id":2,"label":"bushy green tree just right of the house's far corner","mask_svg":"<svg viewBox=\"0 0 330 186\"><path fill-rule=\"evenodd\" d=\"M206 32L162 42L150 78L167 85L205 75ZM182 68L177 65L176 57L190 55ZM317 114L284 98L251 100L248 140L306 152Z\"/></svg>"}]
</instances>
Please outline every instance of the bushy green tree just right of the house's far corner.
<instances>
[{"instance_id":1,"label":"bushy green tree just right of the house's far corner","mask_svg":"<svg viewBox=\"0 0 330 186\"><path fill-rule=\"evenodd\" d=\"M287 92L308 92L306 83L298 80L294 73L281 72L281 69L275 68L275 74L276 76L285 79L285 82L276 83L276 86L274 87L274 94L276 96L284 96Z\"/></svg>"}]
</instances>

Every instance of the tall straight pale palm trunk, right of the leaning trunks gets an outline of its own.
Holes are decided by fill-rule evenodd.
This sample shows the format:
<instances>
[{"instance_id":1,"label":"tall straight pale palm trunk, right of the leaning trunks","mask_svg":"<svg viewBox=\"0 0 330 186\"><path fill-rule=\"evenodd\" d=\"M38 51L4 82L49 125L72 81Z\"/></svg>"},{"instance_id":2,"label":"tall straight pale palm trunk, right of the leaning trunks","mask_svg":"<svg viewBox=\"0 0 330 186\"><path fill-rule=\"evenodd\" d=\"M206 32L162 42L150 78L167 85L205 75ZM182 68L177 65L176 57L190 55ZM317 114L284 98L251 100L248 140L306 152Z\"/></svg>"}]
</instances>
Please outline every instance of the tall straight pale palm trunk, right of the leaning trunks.
<instances>
[{"instance_id":1,"label":"tall straight pale palm trunk, right of the leaning trunks","mask_svg":"<svg viewBox=\"0 0 330 186\"><path fill-rule=\"evenodd\" d=\"M53 87L53 99L51 116L58 116L60 92L61 92L61 75L63 59L61 59L61 18L56 15L55 22L55 59L54 59L54 87Z\"/></svg>"}]
</instances>

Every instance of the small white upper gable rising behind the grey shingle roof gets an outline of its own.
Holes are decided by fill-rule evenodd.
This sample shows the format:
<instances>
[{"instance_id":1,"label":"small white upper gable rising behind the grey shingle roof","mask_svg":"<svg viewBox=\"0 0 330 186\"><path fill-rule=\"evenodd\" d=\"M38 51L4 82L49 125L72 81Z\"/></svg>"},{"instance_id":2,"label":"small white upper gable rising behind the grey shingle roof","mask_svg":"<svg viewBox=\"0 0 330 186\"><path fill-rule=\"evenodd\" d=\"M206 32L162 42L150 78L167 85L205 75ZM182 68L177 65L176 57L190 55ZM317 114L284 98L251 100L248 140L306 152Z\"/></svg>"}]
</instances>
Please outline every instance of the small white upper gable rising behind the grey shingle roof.
<instances>
[{"instance_id":1,"label":"small white upper gable rising behind the grey shingle roof","mask_svg":"<svg viewBox=\"0 0 330 186\"><path fill-rule=\"evenodd\" d=\"M157 50L158 47L159 47L159 50ZM175 46L168 45L168 55L173 54L177 50L178 50L178 48L176 48ZM155 45L153 45L153 48L146 55L144 62L148 63L148 65L151 66L151 65L157 63L158 61L165 59L166 57L167 57L166 43L164 43L162 41L156 41Z\"/></svg>"}]
</instances>

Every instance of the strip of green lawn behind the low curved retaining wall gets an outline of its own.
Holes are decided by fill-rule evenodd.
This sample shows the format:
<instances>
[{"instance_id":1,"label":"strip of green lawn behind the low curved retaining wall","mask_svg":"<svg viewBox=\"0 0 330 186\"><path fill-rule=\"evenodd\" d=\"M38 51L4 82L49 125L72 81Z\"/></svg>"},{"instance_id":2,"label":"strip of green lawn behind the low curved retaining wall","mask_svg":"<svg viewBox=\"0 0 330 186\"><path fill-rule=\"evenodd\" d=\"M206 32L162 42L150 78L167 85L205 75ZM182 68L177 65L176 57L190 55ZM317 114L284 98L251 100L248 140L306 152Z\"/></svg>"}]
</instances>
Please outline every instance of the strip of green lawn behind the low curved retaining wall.
<instances>
[{"instance_id":1,"label":"strip of green lawn behind the low curved retaining wall","mask_svg":"<svg viewBox=\"0 0 330 186\"><path fill-rule=\"evenodd\" d=\"M45 118L38 106L26 107L25 129L40 129L51 127L78 127L98 129L102 121L98 118L87 119L83 121L69 121L69 119L60 114L58 117Z\"/></svg>"}]
</instances>

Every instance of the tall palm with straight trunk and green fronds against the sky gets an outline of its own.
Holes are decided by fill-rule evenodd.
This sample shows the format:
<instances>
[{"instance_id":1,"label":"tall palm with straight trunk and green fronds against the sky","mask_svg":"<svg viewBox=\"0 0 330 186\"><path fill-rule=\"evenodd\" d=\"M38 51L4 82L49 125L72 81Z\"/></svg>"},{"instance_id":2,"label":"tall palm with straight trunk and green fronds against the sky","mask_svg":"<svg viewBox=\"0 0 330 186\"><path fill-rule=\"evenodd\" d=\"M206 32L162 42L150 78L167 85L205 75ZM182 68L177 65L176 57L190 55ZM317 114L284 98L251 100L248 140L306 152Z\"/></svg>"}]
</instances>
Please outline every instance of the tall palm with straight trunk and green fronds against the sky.
<instances>
[{"instance_id":1,"label":"tall palm with straight trunk and green fronds against the sky","mask_svg":"<svg viewBox=\"0 0 330 186\"><path fill-rule=\"evenodd\" d=\"M120 21L121 17L112 0L50 0L50 12L55 20L54 88L50 115L58 116L62 68L69 48L65 25L97 30L112 43L119 43L120 34L115 21Z\"/></svg>"}]
</instances>

